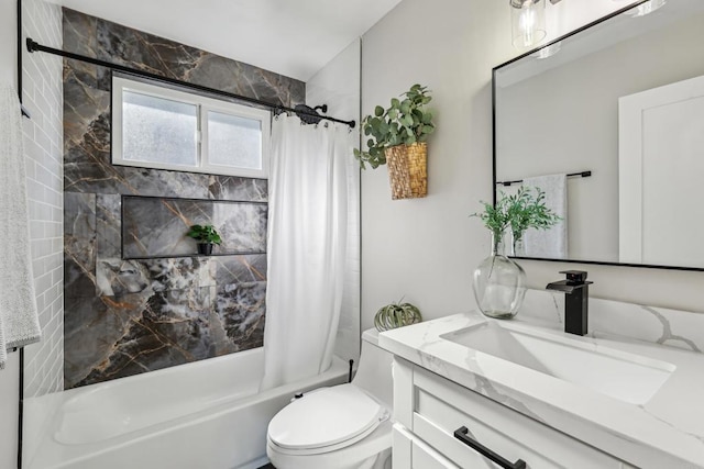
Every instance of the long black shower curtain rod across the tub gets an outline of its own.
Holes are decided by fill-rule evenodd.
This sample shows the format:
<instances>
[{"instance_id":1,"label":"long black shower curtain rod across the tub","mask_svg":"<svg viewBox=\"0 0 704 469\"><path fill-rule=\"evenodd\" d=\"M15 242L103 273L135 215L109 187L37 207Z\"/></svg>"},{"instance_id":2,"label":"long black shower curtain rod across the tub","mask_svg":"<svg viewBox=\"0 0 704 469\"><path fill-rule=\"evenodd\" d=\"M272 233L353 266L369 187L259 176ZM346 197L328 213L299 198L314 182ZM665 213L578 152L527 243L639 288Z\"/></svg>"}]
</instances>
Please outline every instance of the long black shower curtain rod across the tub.
<instances>
[{"instance_id":1,"label":"long black shower curtain rod across the tub","mask_svg":"<svg viewBox=\"0 0 704 469\"><path fill-rule=\"evenodd\" d=\"M318 119L324 119L324 120L332 121L332 122L339 122L341 124L349 125L351 129L354 129L354 126L356 125L356 123L354 121L343 121L341 119L334 119L334 118L328 118L328 116L324 116L324 115L320 115L317 112L307 112L305 110L295 110L293 108L287 108L285 105L272 104L272 103L266 102L266 101L260 101L258 99L249 98L249 97L240 96L240 94L234 94L234 93L230 93L230 92L227 92L227 91L218 90L218 89L215 89L215 88L204 87L202 85L189 83L187 81L177 80L175 78L163 77L161 75L151 74L148 71L138 70L136 68L125 67L124 65L111 64L109 62L100 60L100 59L92 58L92 57L87 57L85 55L74 54L72 52L66 52L66 51L62 51L62 49L57 49L57 48L53 48L53 47L47 47L47 46L44 46L42 44L38 44L38 43L34 42L31 37L26 38L26 49L29 52L31 52L31 53L33 53L33 52L45 52L47 54L58 55L58 56L62 56L62 57L74 59L74 60L80 60L80 62L85 62L87 64L98 65L100 67L107 67L107 68L110 68L112 70L123 71L125 74L130 74L130 75L134 75L134 76L139 76L139 77L144 77L144 78L148 78L148 79L156 80L156 81L162 81L162 82L166 82L166 83L170 83L170 85L176 85L176 86L179 86L179 87L186 87L186 88L190 88L190 89L194 89L194 90L204 91L204 92L211 93L211 94L218 94L218 96L226 97L226 98L237 99L238 101L243 101L243 102L246 102L246 103L250 103L250 104L261 105L261 107L268 108L268 109L272 109L272 110L280 110L280 111L287 111L287 112L294 112L294 113L297 113L297 114L310 115L310 116L315 116L315 118L318 118Z\"/></svg>"}]
</instances>

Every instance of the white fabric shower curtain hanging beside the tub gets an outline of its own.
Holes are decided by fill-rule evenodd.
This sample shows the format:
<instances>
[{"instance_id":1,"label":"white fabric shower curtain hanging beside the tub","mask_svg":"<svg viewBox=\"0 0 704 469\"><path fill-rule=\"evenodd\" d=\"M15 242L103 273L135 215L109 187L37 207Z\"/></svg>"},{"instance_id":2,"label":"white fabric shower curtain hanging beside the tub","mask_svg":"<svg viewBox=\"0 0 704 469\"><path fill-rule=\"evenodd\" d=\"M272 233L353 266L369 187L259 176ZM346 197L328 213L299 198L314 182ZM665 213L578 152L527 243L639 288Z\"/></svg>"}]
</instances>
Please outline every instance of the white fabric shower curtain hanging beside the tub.
<instances>
[{"instance_id":1,"label":"white fabric shower curtain hanging beside the tub","mask_svg":"<svg viewBox=\"0 0 704 469\"><path fill-rule=\"evenodd\" d=\"M264 378L271 389L324 371L340 320L348 231L359 204L344 124L272 125ZM353 210L350 210L353 209Z\"/></svg>"}]
</instances>

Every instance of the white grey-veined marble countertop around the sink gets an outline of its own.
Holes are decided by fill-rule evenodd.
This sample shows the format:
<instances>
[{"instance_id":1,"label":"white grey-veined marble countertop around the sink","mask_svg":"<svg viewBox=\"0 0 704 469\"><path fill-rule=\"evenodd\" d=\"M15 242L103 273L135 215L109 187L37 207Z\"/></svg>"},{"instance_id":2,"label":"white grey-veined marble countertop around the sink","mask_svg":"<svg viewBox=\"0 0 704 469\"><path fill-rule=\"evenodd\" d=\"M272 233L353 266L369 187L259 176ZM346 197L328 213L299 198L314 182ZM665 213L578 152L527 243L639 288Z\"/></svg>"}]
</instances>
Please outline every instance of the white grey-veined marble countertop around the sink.
<instances>
[{"instance_id":1,"label":"white grey-veined marble countertop around the sink","mask_svg":"<svg viewBox=\"0 0 704 469\"><path fill-rule=\"evenodd\" d=\"M704 354L600 332L568 335L560 323L520 315L510 321L676 367L649 401L629 404L441 337L486 321L495 320L441 317L382 333L380 346L637 467L704 467Z\"/></svg>"}]
</instances>

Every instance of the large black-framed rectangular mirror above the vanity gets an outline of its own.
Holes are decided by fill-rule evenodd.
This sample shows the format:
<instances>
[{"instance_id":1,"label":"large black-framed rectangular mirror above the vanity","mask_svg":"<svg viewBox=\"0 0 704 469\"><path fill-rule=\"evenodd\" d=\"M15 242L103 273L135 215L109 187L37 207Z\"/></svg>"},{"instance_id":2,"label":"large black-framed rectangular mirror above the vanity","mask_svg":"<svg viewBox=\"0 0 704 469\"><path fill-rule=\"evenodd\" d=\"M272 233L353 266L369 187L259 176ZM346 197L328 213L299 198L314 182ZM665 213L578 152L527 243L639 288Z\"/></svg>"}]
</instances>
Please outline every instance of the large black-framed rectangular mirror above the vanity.
<instances>
[{"instance_id":1,"label":"large black-framed rectangular mirror above the vanity","mask_svg":"<svg viewBox=\"0 0 704 469\"><path fill-rule=\"evenodd\" d=\"M704 1L656 1L494 69L495 196L563 206L516 257L704 269Z\"/></svg>"}]
</instances>

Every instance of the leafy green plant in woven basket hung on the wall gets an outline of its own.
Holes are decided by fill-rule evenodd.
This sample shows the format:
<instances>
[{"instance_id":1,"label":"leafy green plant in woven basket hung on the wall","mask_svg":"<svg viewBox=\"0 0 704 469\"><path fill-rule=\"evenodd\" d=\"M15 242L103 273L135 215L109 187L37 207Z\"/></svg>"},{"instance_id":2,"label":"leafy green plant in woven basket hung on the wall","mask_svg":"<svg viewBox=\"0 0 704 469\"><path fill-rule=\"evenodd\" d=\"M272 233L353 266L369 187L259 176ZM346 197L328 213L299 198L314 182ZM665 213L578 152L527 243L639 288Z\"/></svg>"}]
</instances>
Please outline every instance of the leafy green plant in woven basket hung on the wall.
<instances>
[{"instance_id":1,"label":"leafy green plant in woven basket hung on the wall","mask_svg":"<svg viewBox=\"0 0 704 469\"><path fill-rule=\"evenodd\" d=\"M388 178L392 186L392 199L411 199L428 193L428 136L436 130L432 112L426 104L432 99L430 90L414 85L402 94L393 98L391 107L377 105L374 115L362 120L367 150L354 149L362 169L366 165L375 169L388 163Z\"/></svg>"}]
</instances>

